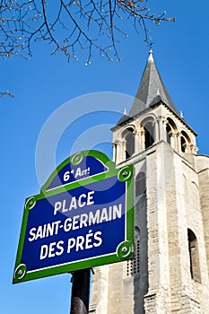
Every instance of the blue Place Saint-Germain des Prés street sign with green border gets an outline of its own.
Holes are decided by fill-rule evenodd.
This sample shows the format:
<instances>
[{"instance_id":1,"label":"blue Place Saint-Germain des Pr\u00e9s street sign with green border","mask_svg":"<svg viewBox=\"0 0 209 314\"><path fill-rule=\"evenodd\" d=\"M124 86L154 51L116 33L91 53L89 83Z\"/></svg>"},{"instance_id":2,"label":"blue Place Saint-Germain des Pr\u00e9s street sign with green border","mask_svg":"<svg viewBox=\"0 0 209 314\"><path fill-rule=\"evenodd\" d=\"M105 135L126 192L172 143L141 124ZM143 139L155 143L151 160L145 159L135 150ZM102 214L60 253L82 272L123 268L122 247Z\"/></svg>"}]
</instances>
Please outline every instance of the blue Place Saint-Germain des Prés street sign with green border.
<instances>
[{"instance_id":1,"label":"blue Place Saint-Germain des Pr\u00e9s street sign with green border","mask_svg":"<svg viewBox=\"0 0 209 314\"><path fill-rule=\"evenodd\" d=\"M13 283L133 257L132 166L77 153L26 199Z\"/></svg>"}]
</instances>

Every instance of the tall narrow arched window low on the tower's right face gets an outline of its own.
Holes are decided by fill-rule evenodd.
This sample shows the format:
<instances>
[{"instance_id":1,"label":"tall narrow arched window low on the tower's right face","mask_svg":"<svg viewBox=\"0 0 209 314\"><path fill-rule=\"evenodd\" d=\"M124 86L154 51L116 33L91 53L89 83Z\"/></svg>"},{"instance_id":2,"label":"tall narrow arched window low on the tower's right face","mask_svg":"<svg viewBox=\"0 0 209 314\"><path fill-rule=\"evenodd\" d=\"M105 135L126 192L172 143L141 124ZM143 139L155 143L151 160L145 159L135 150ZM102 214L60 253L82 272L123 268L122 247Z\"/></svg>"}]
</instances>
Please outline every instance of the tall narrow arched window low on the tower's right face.
<instances>
[{"instance_id":1,"label":"tall narrow arched window low on the tower's right face","mask_svg":"<svg viewBox=\"0 0 209 314\"><path fill-rule=\"evenodd\" d=\"M190 274L192 279L201 283L200 266L199 266L199 253L196 235L190 229L187 230L188 237L188 252L190 263Z\"/></svg>"}]
</instances>

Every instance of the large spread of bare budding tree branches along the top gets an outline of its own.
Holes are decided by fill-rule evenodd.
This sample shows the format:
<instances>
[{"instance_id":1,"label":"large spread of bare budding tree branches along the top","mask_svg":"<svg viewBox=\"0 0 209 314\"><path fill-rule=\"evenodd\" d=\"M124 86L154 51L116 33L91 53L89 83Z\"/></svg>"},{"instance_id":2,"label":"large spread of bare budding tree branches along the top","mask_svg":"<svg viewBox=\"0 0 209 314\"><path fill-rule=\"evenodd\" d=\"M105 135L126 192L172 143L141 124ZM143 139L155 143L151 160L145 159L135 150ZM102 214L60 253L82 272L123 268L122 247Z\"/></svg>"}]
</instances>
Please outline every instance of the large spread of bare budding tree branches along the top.
<instances>
[{"instance_id":1,"label":"large spread of bare budding tree branches along the top","mask_svg":"<svg viewBox=\"0 0 209 314\"><path fill-rule=\"evenodd\" d=\"M94 51L109 61L120 60L118 42L126 37L126 21L144 33L149 43L148 22L173 21L166 12L152 13L148 0L1 0L0 57L32 57L32 44L43 40L51 54L61 51L69 61L86 58ZM83 50L86 50L86 52Z\"/></svg>"}]
</instances>

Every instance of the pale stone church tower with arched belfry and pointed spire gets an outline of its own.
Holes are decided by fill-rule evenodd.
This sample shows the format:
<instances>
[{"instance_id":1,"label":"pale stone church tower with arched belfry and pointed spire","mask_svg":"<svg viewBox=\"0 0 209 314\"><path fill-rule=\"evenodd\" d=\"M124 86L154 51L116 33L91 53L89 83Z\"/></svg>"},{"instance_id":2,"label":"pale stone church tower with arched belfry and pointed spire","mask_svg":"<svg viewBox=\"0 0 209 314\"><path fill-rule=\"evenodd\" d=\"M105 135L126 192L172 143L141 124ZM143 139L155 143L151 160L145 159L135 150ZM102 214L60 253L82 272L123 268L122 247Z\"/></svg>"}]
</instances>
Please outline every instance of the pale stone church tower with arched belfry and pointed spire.
<instances>
[{"instance_id":1,"label":"pale stone church tower with arched belfry and pointed spire","mask_svg":"<svg viewBox=\"0 0 209 314\"><path fill-rule=\"evenodd\" d=\"M208 314L209 157L196 153L152 51L112 132L118 166L135 165L135 259L94 269L90 313Z\"/></svg>"}]
</instances>

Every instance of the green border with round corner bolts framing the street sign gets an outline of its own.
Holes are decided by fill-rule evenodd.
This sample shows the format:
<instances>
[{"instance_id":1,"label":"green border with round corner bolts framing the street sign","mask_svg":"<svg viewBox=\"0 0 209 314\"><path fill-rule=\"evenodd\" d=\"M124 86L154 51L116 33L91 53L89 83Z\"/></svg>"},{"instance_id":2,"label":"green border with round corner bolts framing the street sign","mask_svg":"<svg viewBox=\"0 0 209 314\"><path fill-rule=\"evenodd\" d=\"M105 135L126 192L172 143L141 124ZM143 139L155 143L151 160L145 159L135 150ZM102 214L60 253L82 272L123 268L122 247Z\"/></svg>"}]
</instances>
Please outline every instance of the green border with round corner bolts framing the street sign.
<instances>
[{"instance_id":1,"label":"green border with round corner bolts framing the street sign","mask_svg":"<svg viewBox=\"0 0 209 314\"><path fill-rule=\"evenodd\" d=\"M57 176L57 173L62 170L66 164L73 163L79 165L83 157L91 156L101 161L109 170L96 174L92 177L79 179L69 184L62 185L57 188L47 190L52 180ZM37 200L54 196L65 191L72 190L81 186L86 186L95 181L102 181L114 176L118 176L120 181L126 181L126 240L118 246L117 252L102 257L91 257L90 259L75 261L69 264L60 266L51 266L50 268L38 269L27 273L27 268L22 264L22 249L25 240L25 232L29 217L29 211L35 206ZM109 157L99 151L83 151L75 153L73 156L65 159L56 170L52 172L46 184L41 188L40 194L30 196L25 200L24 212L22 217L22 229L17 250L17 257L14 267L13 283L22 283L32 279L47 277L50 275L58 275L70 273L75 270L91 268L94 266L107 265L111 263L121 262L127 259L134 258L135 249L135 210L134 210L134 179L133 165L116 168L115 162L110 161Z\"/></svg>"}]
</instances>

